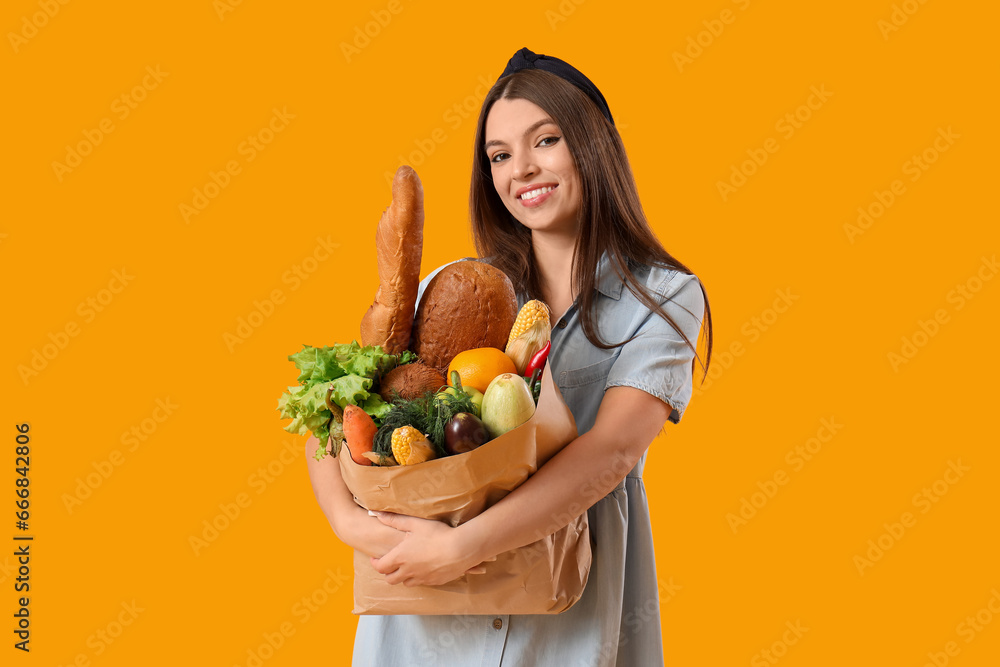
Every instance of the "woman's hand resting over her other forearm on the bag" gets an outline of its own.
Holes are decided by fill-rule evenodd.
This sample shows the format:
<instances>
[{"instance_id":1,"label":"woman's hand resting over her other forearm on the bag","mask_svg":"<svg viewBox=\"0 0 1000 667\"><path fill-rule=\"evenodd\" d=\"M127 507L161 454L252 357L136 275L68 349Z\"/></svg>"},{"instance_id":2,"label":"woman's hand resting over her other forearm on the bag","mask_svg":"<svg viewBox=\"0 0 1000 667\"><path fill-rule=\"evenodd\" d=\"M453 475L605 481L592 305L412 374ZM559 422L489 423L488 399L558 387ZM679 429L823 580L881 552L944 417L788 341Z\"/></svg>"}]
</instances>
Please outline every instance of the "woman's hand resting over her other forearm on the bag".
<instances>
[{"instance_id":1,"label":"woman's hand resting over her other forearm on the bag","mask_svg":"<svg viewBox=\"0 0 1000 667\"><path fill-rule=\"evenodd\" d=\"M372 558L372 567L390 584L438 586L464 574L482 574L484 559L463 541L462 531L441 521L431 521L392 512L375 513L378 520L405 536L382 558Z\"/></svg>"}]
</instances>

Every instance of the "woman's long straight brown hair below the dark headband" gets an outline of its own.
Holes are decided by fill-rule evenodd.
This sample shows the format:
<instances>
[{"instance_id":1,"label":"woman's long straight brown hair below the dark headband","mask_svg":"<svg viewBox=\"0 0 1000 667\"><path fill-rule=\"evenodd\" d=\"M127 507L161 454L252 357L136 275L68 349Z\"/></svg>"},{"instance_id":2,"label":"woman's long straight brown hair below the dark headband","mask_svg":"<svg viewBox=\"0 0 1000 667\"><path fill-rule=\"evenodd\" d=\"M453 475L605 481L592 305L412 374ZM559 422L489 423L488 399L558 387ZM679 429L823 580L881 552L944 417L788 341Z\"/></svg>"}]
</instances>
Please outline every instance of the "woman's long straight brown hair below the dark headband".
<instances>
[{"instance_id":1,"label":"woman's long straight brown hair below the dark headband","mask_svg":"<svg viewBox=\"0 0 1000 667\"><path fill-rule=\"evenodd\" d=\"M564 79L542 70L525 69L502 78L483 100L476 125L472 160L469 213L476 251L510 276L518 294L539 298L539 272L531 246L531 230L524 227L504 206L493 185L493 174L484 148L486 117L501 98L524 99L539 106L559 126L580 177L580 235L573 255L573 287L579 294L580 323L584 335L601 349L612 349L627 341L605 342L594 322L594 291L597 266L606 251L610 266L629 291L651 311L666 320L695 354L692 343L657 299L633 274L638 265L657 266L693 273L664 249L649 227L639 202L635 178L617 128L598 110L587 95ZM705 376L712 356L712 311L705 300L703 335L707 354L702 363Z\"/></svg>"}]
</instances>

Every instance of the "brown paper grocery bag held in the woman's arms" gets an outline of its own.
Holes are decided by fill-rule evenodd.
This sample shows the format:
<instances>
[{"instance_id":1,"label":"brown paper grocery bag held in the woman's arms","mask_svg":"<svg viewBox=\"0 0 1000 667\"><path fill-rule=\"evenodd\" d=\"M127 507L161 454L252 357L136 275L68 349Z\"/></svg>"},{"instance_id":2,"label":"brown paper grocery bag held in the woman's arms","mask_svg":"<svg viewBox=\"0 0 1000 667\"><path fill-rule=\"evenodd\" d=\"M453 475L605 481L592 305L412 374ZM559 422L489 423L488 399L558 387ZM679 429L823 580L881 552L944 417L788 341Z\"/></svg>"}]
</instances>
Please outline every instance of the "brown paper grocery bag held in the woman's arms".
<instances>
[{"instance_id":1,"label":"brown paper grocery bag held in the woman's arms","mask_svg":"<svg viewBox=\"0 0 1000 667\"><path fill-rule=\"evenodd\" d=\"M337 458L347 487L366 509L458 526L522 484L576 438L573 414L548 366L535 414L485 445L412 466L361 466ZM346 445L345 445L346 446ZM366 554L354 552L355 614L558 614L580 599L590 574L587 513L556 533L483 564L441 586L385 582Z\"/></svg>"}]
</instances>

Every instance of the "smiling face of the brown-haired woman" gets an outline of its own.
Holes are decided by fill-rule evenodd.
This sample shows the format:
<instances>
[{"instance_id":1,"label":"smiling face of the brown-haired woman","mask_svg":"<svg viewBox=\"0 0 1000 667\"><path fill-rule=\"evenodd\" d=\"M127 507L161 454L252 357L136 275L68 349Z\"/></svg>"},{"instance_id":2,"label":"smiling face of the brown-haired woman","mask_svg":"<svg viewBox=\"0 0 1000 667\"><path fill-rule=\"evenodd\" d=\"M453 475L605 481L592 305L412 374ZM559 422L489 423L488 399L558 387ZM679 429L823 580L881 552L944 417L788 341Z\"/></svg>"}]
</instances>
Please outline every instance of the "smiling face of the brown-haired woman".
<instances>
[{"instance_id":1,"label":"smiling face of the brown-haired woman","mask_svg":"<svg viewBox=\"0 0 1000 667\"><path fill-rule=\"evenodd\" d=\"M538 105L497 100L486 117L486 157L504 206L522 225L576 236L580 177L559 126Z\"/></svg>"}]
</instances>

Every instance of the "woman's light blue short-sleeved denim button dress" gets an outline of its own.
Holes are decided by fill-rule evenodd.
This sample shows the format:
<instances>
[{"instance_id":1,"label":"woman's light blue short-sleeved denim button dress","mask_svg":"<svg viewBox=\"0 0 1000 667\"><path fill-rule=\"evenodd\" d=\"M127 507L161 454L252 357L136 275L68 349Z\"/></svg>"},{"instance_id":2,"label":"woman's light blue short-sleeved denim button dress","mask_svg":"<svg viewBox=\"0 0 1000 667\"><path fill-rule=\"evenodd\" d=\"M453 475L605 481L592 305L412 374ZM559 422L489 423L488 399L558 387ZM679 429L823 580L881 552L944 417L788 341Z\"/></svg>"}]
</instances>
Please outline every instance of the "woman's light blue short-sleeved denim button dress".
<instances>
[{"instance_id":1,"label":"woman's light blue short-sleeved denim button dress","mask_svg":"<svg viewBox=\"0 0 1000 667\"><path fill-rule=\"evenodd\" d=\"M420 284L419 294L440 267ZM580 433L597 416L604 390L641 389L669 403L680 421L692 392L693 352L610 269L598 267L595 322L602 350L583 333L576 304L553 322L549 363ZM658 296L693 344L704 301L697 277L641 268L636 277ZM553 314L555 316L555 314ZM663 664L659 590L649 505L642 481L646 455L588 510L593 564L580 600L556 615L360 616L353 667L656 667Z\"/></svg>"}]
</instances>

